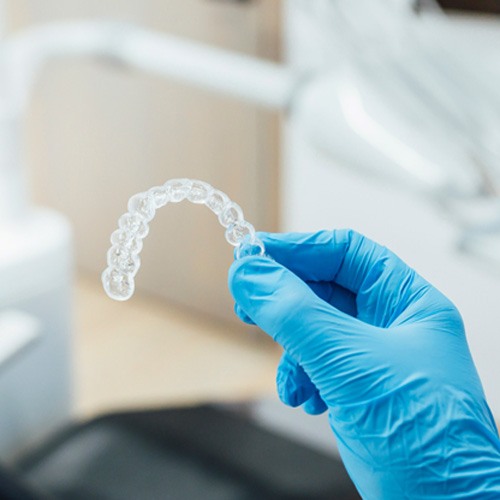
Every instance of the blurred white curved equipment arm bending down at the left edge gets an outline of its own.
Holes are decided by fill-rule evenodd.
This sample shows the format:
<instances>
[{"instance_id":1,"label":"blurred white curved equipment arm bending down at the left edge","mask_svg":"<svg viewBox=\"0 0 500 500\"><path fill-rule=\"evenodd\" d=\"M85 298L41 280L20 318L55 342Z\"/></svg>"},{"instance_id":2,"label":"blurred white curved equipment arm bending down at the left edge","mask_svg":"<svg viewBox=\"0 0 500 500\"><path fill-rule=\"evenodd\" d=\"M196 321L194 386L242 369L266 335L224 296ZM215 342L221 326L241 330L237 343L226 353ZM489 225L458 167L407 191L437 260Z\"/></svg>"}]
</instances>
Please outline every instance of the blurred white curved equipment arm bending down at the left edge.
<instances>
[{"instance_id":1,"label":"blurred white curved equipment arm bending down at the left edge","mask_svg":"<svg viewBox=\"0 0 500 500\"><path fill-rule=\"evenodd\" d=\"M37 74L47 61L90 56L275 109L288 106L297 81L279 64L124 23L53 23L15 35L0 48L0 223L28 206L20 137Z\"/></svg>"}]
</instances>

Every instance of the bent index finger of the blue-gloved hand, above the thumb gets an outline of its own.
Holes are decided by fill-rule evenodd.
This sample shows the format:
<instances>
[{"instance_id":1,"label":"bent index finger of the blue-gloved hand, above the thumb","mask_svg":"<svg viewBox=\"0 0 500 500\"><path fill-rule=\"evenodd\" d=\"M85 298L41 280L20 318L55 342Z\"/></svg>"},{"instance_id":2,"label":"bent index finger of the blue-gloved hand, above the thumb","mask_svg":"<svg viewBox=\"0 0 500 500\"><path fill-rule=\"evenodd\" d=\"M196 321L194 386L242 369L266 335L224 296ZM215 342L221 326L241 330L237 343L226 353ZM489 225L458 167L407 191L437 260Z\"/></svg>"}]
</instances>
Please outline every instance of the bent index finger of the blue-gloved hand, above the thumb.
<instances>
[{"instance_id":1,"label":"bent index finger of the blue-gloved hand, above the thumb","mask_svg":"<svg viewBox=\"0 0 500 500\"><path fill-rule=\"evenodd\" d=\"M390 326L428 288L394 253L350 229L259 236L269 255L301 279L351 291L358 318L376 326Z\"/></svg>"}]
</instances>

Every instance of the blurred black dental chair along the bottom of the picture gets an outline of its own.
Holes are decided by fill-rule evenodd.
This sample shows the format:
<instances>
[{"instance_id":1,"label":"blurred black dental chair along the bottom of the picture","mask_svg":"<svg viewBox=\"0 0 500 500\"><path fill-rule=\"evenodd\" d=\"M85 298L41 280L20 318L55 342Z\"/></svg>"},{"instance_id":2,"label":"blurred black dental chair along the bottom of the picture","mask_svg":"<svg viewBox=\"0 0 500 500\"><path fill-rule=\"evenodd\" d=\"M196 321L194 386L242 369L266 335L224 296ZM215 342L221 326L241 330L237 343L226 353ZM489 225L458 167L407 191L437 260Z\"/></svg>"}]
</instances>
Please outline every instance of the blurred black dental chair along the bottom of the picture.
<instances>
[{"instance_id":1,"label":"blurred black dental chair along the bottom of the picture","mask_svg":"<svg viewBox=\"0 0 500 500\"><path fill-rule=\"evenodd\" d=\"M215 406L75 423L0 467L5 500L359 498L333 456Z\"/></svg>"}]
</instances>

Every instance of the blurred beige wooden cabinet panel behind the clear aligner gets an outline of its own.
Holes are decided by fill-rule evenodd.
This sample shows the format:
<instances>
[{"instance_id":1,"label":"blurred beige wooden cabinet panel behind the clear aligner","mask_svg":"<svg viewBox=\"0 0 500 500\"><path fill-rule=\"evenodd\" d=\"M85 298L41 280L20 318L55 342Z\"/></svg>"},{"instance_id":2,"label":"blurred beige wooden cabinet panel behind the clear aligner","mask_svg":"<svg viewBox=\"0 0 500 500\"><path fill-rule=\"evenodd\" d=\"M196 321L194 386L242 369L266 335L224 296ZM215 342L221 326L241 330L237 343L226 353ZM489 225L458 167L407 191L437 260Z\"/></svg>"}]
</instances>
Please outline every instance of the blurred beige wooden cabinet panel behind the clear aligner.
<instances>
[{"instance_id":1,"label":"blurred beige wooden cabinet panel behind the clear aligner","mask_svg":"<svg viewBox=\"0 0 500 500\"><path fill-rule=\"evenodd\" d=\"M11 0L11 31L54 20L112 18L277 59L280 2ZM54 61L35 86L26 161L37 203L71 219L79 267L98 279L108 239L135 192L172 177L226 191L256 228L277 228L278 116L114 67ZM182 203L151 225L139 290L233 318L232 250L208 210Z\"/></svg>"}]
</instances>

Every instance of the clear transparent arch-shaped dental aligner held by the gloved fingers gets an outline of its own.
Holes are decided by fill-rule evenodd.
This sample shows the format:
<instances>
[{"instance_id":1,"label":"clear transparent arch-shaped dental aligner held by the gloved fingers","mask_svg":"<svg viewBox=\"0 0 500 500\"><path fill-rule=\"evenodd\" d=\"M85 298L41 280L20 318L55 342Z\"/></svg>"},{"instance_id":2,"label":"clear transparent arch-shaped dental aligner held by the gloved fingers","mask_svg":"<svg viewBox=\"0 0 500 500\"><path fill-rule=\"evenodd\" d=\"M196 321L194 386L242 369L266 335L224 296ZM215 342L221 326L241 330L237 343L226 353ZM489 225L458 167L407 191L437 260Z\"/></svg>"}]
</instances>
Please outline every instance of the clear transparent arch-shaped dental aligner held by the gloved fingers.
<instances>
[{"instance_id":1,"label":"clear transparent arch-shaped dental aligner held by the gloved fingers","mask_svg":"<svg viewBox=\"0 0 500 500\"><path fill-rule=\"evenodd\" d=\"M227 242L236 247L237 259L264 255L264 244L256 236L254 227L245 221L241 207L225 193L200 180L171 179L162 186L132 196L128 212L118 219L118 229L111 235L108 267L102 273L104 290L112 299L127 300L134 293L134 277L141 266L142 240L148 235L156 210L182 200L206 205L217 215L226 228Z\"/></svg>"}]
</instances>

